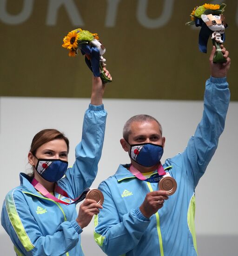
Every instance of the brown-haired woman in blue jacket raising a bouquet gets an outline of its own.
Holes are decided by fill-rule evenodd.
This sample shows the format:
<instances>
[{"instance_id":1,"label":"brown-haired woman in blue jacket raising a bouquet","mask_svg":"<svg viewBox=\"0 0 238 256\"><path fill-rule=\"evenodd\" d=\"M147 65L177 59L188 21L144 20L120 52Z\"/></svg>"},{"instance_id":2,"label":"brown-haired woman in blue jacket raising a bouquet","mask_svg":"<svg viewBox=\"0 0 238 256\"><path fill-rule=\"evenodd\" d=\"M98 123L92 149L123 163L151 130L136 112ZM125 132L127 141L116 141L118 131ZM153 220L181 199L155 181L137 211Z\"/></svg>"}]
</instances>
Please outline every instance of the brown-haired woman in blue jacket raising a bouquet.
<instances>
[{"instance_id":1,"label":"brown-haired woman in blue jacket raising a bouquet","mask_svg":"<svg viewBox=\"0 0 238 256\"><path fill-rule=\"evenodd\" d=\"M7 194L1 215L18 256L84 255L80 233L102 206L86 199L77 213L72 199L77 200L97 174L106 123L104 89L101 79L93 77L91 104L72 168L67 169L69 142L62 133L46 129L34 136L28 154L33 174L20 173L20 186Z\"/></svg>"}]
</instances>

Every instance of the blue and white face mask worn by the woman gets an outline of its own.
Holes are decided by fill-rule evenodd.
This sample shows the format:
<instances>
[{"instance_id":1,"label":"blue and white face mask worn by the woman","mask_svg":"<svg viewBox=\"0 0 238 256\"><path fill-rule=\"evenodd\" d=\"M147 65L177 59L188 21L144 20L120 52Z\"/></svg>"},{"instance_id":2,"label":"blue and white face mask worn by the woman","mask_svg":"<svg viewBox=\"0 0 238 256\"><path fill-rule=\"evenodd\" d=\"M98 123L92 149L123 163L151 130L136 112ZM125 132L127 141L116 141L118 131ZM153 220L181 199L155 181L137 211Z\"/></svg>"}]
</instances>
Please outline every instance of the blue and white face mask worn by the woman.
<instances>
[{"instance_id":1,"label":"blue and white face mask worn by the woman","mask_svg":"<svg viewBox=\"0 0 238 256\"><path fill-rule=\"evenodd\" d=\"M38 159L35 168L46 181L57 182L65 175L67 167L68 162L60 159Z\"/></svg>"}]
</instances>

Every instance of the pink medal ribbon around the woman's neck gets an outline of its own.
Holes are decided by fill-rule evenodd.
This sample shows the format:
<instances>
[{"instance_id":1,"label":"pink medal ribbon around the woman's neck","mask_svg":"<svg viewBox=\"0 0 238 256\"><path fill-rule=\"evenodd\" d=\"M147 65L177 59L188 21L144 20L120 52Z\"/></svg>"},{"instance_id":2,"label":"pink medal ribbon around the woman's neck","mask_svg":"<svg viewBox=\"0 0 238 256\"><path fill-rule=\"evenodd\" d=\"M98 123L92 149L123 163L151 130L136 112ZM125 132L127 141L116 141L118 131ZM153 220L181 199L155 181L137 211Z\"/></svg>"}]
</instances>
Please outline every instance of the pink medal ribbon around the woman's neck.
<instances>
[{"instance_id":1,"label":"pink medal ribbon around the woman's neck","mask_svg":"<svg viewBox=\"0 0 238 256\"><path fill-rule=\"evenodd\" d=\"M89 188L87 188L86 190L84 190L84 192L79 195L79 197L75 198L75 199L71 199L68 197L68 194L65 190L59 188L59 186L56 184L56 187L55 187L55 192L59 193L59 195L61 195L65 201L62 201L60 199L58 199L57 197L55 197L54 195L52 195L43 185L40 184L40 182L38 182L35 178L33 178L32 180L32 185L33 187L38 190L42 195L44 195L45 197L53 200L54 202L59 202L59 203L63 203L63 204L66 204L66 205L69 205L69 204L73 204L73 203L78 203L82 200L85 199L86 197L86 194L87 192L90 190Z\"/></svg>"}]
</instances>

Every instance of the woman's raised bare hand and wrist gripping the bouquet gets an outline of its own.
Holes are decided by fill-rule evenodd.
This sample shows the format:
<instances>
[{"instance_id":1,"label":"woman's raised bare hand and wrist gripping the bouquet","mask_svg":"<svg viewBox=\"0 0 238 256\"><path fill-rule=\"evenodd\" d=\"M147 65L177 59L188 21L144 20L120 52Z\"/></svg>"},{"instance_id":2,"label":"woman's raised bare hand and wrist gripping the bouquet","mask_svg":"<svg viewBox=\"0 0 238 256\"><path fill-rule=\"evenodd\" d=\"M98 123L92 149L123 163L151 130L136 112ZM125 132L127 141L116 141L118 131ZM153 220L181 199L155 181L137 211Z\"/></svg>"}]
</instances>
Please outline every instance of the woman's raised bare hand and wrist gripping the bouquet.
<instances>
[{"instance_id":1,"label":"woman's raised bare hand and wrist gripping the bouquet","mask_svg":"<svg viewBox=\"0 0 238 256\"><path fill-rule=\"evenodd\" d=\"M112 77L106 67L103 68L105 75L112 80ZM105 84L102 83L100 77L93 76L93 88L91 95L91 104L98 106L102 104L102 97L105 90Z\"/></svg>"}]
</instances>

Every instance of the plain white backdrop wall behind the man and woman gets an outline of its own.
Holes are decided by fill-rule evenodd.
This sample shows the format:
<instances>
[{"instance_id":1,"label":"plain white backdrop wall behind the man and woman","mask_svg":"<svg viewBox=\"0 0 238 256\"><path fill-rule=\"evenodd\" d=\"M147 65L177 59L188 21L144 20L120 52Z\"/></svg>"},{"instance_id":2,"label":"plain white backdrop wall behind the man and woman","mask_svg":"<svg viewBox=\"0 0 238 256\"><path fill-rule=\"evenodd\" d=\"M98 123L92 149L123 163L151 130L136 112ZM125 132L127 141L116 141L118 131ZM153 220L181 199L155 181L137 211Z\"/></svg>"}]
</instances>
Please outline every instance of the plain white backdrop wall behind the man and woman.
<instances>
[{"instance_id":1,"label":"plain white backdrop wall behind the man and woman","mask_svg":"<svg viewBox=\"0 0 238 256\"><path fill-rule=\"evenodd\" d=\"M74 148L81 138L83 115L89 102L89 99L0 98L0 202L10 189L19 185L19 173L29 168L27 153L33 135L41 129L57 128L65 133L70 140L69 164L73 164ZM202 101L106 99L104 105L108 112L105 144L99 173L92 187L113 175L119 163L129 162L119 139L125 121L132 115L148 114L161 122L166 137L164 162L165 158L183 151L203 110ZM231 102L218 149L196 189L196 231L199 237L238 237L237 113L238 102ZM7 255L14 255L10 239L1 226L0 237L1 248ZM94 243L93 222L84 229L82 241L86 255L103 255L99 247L88 245ZM206 243L209 242L204 239L202 246L205 247ZM226 245L217 246L219 250L219 246L224 248ZM227 255L237 255L235 251L233 253Z\"/></svg>"}]
</instances>

